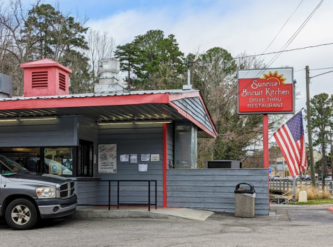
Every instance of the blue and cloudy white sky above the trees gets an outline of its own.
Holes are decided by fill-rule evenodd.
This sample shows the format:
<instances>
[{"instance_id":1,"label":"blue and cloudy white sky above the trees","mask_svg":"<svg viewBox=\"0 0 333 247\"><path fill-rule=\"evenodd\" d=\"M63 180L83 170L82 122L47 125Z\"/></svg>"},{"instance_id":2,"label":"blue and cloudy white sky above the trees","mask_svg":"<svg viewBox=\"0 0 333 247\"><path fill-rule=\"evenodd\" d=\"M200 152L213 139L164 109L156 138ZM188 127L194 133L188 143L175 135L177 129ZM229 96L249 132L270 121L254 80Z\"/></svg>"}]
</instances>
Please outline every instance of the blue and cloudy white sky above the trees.
<instances>
[{"instance_id":1,"label":"blue and cloudy white sky above the trees","mask_svg":"<svg viewBox=\"0 0 333 247\"><path fill-rule=\"evenodd\" d=\"M33 1L22 0L28 5ZM182 52L204 52L214 46L227 49L232 56L246 52L263 53L286 23L266 53L280 51L284 44L309 17L320 0L59 0L62 10L88 17L86 26L108 31L116 44L131 42L136 35L160 29L174 34ZM301 3L302 2L302 3ZM44 0L54 4L54 0ZM301 4L300 4L301 3ZM299 8L295 11L295 9ZM295 13L293 14L293 12ZM333 42L333 1L326 0L286 48L298 49ZM293 14L293 15L292 15ZM292 16L291 16L292 15ZM288 66L297 80L296 109L306 107L305 66L310 76L332 71L333 44L282 53L270 67ZM274 55L261 56L266 64ZM320 70L317 70L320 69ZM311 79L310 97L326 92L333 94L333 73Z\"/></svg>"}]
</instances>

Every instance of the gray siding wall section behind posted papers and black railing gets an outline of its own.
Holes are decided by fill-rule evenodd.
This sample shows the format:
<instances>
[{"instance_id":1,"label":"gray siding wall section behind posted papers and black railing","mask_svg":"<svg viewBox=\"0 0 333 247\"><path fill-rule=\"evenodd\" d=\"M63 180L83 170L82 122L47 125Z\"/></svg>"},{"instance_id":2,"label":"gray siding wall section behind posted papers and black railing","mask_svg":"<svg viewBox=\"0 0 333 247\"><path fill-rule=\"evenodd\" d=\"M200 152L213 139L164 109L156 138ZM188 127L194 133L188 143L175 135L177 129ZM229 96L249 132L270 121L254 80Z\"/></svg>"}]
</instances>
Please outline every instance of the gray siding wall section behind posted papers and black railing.
<instances>
[{"instance_id":1,"label":"gray siding wall section behind posted papers and black railing","mask_svg":"<svg viewBox=\"0 0 333 247\"><path fill-rule=\"evenodd\" d=\"M157 180L158 206L163 205L163 126L159 124L99 126L99 144L117 144L117 173L103 174L102 180ZM142 162L140 154L159 154L158 162ZM120 162L122 154L137 154L138 162ZM138 171L138 164L148 164L146 172ZM120 182L120 203L147 203L147 182ZM151 185L151 201L155 200ZM108 203L108 183L99 182L98 203ZM117 203L117 184L111 183L111 203Z\"/></svg>"}]
</instances>

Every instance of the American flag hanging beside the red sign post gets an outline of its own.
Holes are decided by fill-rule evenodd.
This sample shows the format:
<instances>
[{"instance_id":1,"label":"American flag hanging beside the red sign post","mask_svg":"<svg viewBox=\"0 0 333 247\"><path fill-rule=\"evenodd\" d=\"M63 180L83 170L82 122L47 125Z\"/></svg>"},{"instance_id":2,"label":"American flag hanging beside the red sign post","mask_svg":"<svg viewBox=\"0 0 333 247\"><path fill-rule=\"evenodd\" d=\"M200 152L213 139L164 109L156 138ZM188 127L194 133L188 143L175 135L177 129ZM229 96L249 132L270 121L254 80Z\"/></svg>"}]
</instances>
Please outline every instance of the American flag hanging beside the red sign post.
<instances>
[{"instance_id":1,"label":"American flag hanging beside the red sign post","mask_svg":"<svg viewBox=\"0 0 333 247\"><path fill-rule=\"evenodd\" d=\"M302 111L284 123L274 133L274 137L286 159L291 176L297 176L307 169L307 151L305 150Z\"/></svg>"}]
</instances>

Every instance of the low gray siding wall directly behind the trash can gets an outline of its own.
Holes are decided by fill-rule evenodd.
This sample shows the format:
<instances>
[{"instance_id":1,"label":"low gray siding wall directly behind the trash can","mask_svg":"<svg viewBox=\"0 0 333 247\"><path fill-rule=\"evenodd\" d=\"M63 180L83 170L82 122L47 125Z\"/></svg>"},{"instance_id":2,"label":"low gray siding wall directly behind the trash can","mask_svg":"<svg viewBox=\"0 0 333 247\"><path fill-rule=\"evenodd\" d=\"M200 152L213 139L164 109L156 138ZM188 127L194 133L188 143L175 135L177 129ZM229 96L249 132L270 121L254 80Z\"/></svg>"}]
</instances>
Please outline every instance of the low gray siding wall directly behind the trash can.
<instances>
[{"instance_id":1,"label":"low gray siding wall directly behind the trash can","mask_svg":"<svg viewBox=\"0 0 333 247\"><path fill-rule=\"evenodd\" d=\"M168 207L235 212L235 187L250 182L256 191L255 214L268 215L267 176L267 169L168 169Z\"/></svg>"}]
</instances>

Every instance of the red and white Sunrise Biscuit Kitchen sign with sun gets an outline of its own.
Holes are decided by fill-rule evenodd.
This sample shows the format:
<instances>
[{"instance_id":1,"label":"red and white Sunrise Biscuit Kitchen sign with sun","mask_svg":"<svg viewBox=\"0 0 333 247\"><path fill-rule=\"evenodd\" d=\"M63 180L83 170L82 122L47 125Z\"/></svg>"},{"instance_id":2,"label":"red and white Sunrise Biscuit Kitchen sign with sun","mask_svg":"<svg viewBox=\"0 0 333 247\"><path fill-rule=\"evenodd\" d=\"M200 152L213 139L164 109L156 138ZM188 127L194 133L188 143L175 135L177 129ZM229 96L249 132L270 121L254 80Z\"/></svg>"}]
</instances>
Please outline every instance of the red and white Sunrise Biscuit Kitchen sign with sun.
<instances>
[{"instance_id":1,"label":"red and white Sunrise Biscuit Kitchen sign with sun","mask_svg":"<svg viewBox=\"0 0 333 247\"><path fill-rule=\"evenodd\" d=\"M293 68L238 70L238 114L293 113Z\"/></svg>"}]
</instances>

